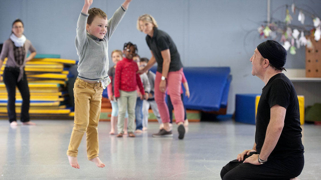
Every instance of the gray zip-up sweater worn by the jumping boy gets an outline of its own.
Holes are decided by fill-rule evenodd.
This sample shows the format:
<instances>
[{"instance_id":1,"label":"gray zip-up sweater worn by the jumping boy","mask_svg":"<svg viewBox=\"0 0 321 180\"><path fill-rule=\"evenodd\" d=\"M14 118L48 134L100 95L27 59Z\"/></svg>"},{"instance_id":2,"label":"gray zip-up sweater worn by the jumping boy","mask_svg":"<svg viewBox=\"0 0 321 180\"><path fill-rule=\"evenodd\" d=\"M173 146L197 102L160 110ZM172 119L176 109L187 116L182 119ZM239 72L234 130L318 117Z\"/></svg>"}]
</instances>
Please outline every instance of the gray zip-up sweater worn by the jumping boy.
<instances>
[{"instance_id":1,"label":"gray zip-up sweater worn by the jumping boy","mask_svg":"<svg viewBox=\"0 0 321 180\"><path fill-rule=\"evenodd\" d=\"M125 8L120 6L113 17L108 20L104 39L98 39L86 31L89 14L80 13L75 40L77 55L79 56L77 70L80 79L100 81L108 78L108 40L124 17L125 12Z\"/></svg>"}]
</instances>

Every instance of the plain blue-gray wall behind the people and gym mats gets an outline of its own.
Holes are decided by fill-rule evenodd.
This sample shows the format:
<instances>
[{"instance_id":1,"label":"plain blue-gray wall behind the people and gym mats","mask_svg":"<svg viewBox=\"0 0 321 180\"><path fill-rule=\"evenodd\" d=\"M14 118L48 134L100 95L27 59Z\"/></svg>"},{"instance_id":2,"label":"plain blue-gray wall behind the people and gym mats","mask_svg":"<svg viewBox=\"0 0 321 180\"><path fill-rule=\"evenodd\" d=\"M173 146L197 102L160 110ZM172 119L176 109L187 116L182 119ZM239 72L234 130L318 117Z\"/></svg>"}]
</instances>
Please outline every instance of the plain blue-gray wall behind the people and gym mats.
<instances>
[{"instance_id":1,"label":"plain blue-gray wall behind the people and gym mats","mask_svg":"<svg viewBox=\"0 0 321 180\"><path fill-rule=\"evenodd\" d=\"M294 2L309 11L319 13L321 9L317 1ZM78 59L74 38L83 3L83 0L0 0L0 43L8 39L12 22L21 18L25 35L39 54ZM91 7L102 9L110 18L121 3L123 0L94 0ZM271 16L283 21L285 7L279 7L292 3L293 0L271 0ZM168 32L175 41L184 66L231 68L233 80L228 104L231 114L235 110L235 94L261 93L264 86L251 75L249 58L257 44L264 41L258 38L256 29L266 21L266 4L263 0L133 0L109 41L109 53L132 41L141 57L150 57L145 34L136 30L137 17L150 13L159 29ZM297 14L293 19L292 23L299 24ZM312 24L308 15L306 24ZM296 55L288 55L285 67L305 68L304 59L304 48L300 48Z\"/></svg>"}]
</instances>

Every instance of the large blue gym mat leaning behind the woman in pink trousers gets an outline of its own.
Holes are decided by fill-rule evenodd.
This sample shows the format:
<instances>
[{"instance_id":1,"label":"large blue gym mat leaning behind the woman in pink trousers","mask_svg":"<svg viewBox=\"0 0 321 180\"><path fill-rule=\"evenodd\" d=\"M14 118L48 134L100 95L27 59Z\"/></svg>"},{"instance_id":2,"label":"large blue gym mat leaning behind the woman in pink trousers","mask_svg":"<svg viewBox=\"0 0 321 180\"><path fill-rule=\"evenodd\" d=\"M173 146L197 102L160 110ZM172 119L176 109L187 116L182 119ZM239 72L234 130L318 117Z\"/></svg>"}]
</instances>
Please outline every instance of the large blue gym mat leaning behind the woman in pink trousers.
<instances>
[{"instance_id":1,"label":"large blue gym mat leaning behind the woman in pink trousers","mask_svg":"<svg viewBox=\"0 0 321 180\"><path fill-rule=\"evenodd\" d=\"M156 66L151 70L155 72ZM183 99L187 109L210 112L226 108L230 67L184 67L183 71L190 91L190 98Z\"/></svg>"}]
</instances>

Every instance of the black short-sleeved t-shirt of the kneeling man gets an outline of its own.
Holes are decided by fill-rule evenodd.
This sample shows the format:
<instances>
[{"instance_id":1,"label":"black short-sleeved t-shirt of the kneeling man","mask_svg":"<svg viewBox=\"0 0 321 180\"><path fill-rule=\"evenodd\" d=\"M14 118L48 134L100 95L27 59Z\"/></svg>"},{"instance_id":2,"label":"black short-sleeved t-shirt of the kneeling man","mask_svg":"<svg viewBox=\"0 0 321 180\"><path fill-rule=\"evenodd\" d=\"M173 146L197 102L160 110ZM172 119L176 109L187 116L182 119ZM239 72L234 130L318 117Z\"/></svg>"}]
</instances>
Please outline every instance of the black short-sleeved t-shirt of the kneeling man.
<instances>
[{"instance_id":1,"label":"black short-sleeved t-shirt of the kneeling man","mask_svg":"<svg viewBox=\"0 0 321 180\"><path fill-rule=\"evenodd\" d=\"M256 114L256 150L261 152L270 122L270 109L276 104L284 107L286 114L281 136L270 156L283 158L288 155L303 156L298 96L292 82L283 73L271 77L262 89Z\"/></svg>"}]
</instances>

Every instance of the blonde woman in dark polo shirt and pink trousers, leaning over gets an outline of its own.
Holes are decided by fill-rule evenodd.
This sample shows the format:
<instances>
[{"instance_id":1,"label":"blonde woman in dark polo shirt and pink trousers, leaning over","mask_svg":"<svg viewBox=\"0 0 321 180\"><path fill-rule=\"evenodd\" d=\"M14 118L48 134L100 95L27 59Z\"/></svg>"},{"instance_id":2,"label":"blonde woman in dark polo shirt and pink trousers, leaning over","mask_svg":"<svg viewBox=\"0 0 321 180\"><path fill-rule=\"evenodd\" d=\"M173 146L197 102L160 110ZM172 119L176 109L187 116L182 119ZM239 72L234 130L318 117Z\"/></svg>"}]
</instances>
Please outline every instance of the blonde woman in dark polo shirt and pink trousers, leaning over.
<instances>
[{"instance_id":1,"label":"blonde woman in dark polo shirt and pink trousers, leaning over","mask_svg":"<svg viewBox=\"0 0 321 180\"><path fill-rule=\"evenodd\" d=\"M155 79L155 101L157 103L160 117L164 123L164 129L153 134L153 137L172 137L169 126L169 111L165 102L165 92L169 91L170 99L174 106L176 124L178 125L178 138L183 139L184 128L184 105L180 96L182 84L183 65L179 57L176 45L171 37L164 31L159 30L157 22L149 14L138 17L137 29L146 35L146 42L151 49L152 57L147 66L140 73L150 69L156 62L157 72Z\"/></svg>"}]
</instances>

